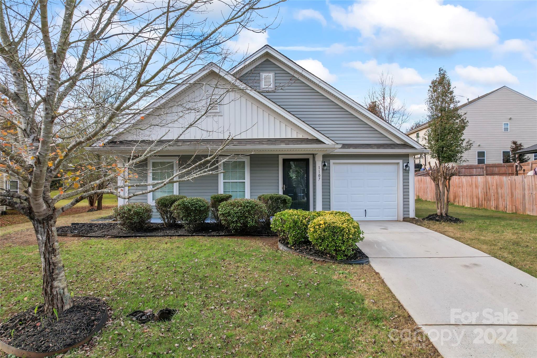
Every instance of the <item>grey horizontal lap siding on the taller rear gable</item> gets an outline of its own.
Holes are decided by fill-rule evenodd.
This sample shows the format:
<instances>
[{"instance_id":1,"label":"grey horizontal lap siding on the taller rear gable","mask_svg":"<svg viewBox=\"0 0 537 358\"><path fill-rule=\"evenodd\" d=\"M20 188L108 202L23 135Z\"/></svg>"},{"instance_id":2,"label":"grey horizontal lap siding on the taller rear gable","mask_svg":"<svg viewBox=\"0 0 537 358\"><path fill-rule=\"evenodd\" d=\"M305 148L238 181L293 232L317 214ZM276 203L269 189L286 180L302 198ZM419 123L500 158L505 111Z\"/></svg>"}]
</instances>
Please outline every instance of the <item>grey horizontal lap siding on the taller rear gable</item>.
<instances>
[{"instance_id":1,"label":"grey horizontal lap siding on the taller rear gable","mask_svg":"<svg viewBox=\"0 0 537 358\"><path fill-rule=\"evenodd\" d=\"M394 143L390 138L270 60L265 60L246 71L240 79L258 90L260 72L274 72L275 77L275 90L260 91L260 93L333 141L342 144Z\"/></svg>"}]
</instances>

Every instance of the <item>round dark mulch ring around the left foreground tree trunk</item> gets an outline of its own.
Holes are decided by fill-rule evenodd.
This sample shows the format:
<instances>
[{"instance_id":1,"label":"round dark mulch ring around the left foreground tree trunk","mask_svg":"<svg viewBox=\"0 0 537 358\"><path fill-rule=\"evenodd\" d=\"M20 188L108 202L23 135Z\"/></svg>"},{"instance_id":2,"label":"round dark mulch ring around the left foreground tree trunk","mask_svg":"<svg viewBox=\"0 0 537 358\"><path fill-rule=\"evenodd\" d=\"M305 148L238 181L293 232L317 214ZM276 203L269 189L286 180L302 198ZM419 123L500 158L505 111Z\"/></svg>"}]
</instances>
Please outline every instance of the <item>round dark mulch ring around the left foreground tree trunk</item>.
<instances>
[{"instance_id":1,"label":"round dark mulch ring around the left foreground tree trunk","mask_svg":"<svg viewBox=\"0 0 537 358\"><path fill-rule=\"evenodd\" d=\"M0 340L32 352L54 352L88 337L106 314L106 303L96 297L73 297L73 305L56 317L47 317L43 305L20 312L0 325Z\"/></svg>"}]
</instances>

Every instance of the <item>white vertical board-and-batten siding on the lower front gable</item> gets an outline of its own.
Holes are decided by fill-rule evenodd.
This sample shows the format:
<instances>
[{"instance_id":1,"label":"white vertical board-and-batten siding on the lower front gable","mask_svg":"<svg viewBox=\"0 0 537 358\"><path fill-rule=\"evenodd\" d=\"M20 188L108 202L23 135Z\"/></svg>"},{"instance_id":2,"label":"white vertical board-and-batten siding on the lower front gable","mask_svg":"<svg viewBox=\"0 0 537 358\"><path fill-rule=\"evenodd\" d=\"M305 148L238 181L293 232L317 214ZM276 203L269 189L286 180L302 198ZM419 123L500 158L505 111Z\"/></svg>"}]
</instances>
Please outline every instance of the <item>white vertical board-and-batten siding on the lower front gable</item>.
<instances>
[{"instance_id":1,"label":"white vertical board-and-batten siding on the lower front gable","mask_svg":"<svg viewBox=\"0 0 537 358\"><path fill-rule=\"evenodd\" d=\"M205 80L215 82L213 80ZM165 108L155 109L143 121L137 124L140 127L149 125L149 128L132 129L119 134L119 140L155 140L169 130L162 139L200 140L224 139L229 135L236 139L251 138L314 138L311 134L283 118L271 108L260 103L244 91L229 91L220 101L219 112L207 113L204 118L192 126L185 128L197 119L206 109L208 98L213 90L211 87L194 84L192 89L170 98ZM223 90L222 90L223 91ZM185 99L186 98L186 99ZM186 111L186 103L194 103L197 111ZM155 125L153 125L155 124ZM183 133L183 134L182 134Z\"/></svg>"}]
</instances>

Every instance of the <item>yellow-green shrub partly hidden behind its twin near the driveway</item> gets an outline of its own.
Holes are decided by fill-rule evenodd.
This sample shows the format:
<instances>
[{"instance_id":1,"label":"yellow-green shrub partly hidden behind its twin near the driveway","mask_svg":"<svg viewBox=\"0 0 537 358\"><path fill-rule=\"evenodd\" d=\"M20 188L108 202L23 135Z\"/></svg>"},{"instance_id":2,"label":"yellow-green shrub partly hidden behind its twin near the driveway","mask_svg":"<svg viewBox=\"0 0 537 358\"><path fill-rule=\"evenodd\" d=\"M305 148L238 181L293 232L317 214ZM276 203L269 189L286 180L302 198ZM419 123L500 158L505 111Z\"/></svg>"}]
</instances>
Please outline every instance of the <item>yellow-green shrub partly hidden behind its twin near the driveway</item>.
<instances>
[{"instance_id":1,"label":"yellow-green shrub partly hidden behind its twin near the driveway","mask_svg":"<svg viewBox=\"0 0 537 358\"><path fill-rule=\"evenodd\" d=\"M308 225L315 218L324 215L351 215L346 211L305 211L289 209L280 211L274 215L271 223L271 229L278 236L287 239L289 245L295 245L308 241Z\"/></svg>"}]
</instances>

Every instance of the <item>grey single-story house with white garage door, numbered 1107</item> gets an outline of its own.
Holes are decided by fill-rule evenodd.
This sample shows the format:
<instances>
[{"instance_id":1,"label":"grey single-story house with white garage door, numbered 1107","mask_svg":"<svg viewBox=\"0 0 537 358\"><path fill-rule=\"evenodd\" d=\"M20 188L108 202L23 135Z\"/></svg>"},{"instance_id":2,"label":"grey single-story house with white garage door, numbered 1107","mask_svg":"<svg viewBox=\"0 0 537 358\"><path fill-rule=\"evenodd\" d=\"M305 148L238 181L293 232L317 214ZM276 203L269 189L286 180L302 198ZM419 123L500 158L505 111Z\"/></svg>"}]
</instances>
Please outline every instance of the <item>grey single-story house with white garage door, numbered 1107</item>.
<instances>
[{"instance_id":1,"label":"grey single-story house with white garage door, numbered 1107","mask_svg":"<svg viewBox=\"0 0 537 358\"><path fill-rule=\"evenodd\" d=\"M183 106L185 98L202 98L209 87L238 90L223 96L213 91L206 118L157 157L132 169L138 178L130 182L169 178L194 154L200 160L232 134L234 140L224 152L234 157L223 163L225 172L170 184L130 202L154 205L159 196L174 193L205 199L216 193L252 199L280 193L291 196L292 208L345 210L357 220L414 217L409 167L426 149L270 46L229 72L207 65L147 107L147 129L124 128L92 150L121 157L134 147L134 152L147 148L152 140L169 143L190 114L163 125L174 112L162 109L163 104Z\"/></svg>"}]
</instances>

